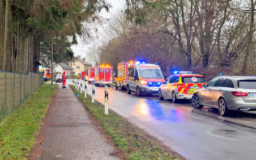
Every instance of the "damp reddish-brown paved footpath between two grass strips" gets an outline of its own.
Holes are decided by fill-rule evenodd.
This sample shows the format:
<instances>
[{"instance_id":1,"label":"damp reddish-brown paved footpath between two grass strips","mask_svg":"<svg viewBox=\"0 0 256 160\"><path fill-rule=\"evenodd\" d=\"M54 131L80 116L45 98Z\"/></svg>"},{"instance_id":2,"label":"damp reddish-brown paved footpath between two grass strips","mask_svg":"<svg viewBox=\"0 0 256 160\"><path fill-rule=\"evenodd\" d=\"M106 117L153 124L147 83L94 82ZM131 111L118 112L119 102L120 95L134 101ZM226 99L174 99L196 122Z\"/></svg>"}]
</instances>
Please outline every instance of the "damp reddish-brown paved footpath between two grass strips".
<instances>
[{"instance_id":1,"label":"damp reddish-brown paved footpath between two grass strips","mask_svg":"<svg viewBox=\"0 0 256 160\"><path fill-rule=\"evenodd\" d=\"M117 150L91 120L74 91L59 85L30 160L116 160Z\"/></svg>"}]
</instances>

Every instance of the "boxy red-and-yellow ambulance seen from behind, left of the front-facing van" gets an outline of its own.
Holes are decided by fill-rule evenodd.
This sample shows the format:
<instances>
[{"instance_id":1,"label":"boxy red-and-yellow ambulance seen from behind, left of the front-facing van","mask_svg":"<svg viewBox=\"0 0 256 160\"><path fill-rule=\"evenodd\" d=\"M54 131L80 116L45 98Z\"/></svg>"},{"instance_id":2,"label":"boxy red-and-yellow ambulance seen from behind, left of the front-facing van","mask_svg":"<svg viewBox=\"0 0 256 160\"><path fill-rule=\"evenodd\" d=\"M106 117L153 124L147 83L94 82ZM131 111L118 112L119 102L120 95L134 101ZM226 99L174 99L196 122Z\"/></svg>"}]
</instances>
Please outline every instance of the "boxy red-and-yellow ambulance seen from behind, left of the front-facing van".
<instances>
[{"instance_id":1,"label":"boxy red-and-yellow ambulance seen from behind, left of the front-facing van","mask_svg":"<svg viewBox=\"0 0 256 160\"><path fill-rule=\"evenodd\" d=\"M108 66L108 65L96 66L94 84L96 86L100 86L100 85L110 86L110 84L112 84L113 82L112 71L113 71L113 66Z\"/></svg>"}]
</instances>

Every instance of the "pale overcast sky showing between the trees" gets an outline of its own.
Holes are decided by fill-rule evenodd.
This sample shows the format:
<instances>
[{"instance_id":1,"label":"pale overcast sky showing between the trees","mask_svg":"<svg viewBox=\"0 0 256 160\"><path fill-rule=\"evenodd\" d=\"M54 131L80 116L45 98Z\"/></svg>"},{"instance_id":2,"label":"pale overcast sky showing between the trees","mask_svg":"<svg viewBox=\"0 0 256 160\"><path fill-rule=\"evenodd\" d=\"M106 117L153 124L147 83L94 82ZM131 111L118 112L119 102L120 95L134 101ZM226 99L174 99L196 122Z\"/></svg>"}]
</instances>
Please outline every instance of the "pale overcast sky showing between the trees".
<instances>
[{"instance_id":1,"label":"pale overcast sky showing between the trees","mask_svg":"<svg viewBox=\"0 0 256 160\"><path fill-rule=\"evenodd\" d=\"M100 16L102 16L104 18L110 18L110 16L112 14L118 12L118 10L122 10L125 6L125 0L107 0L107 1L111 4L112 8L110 8L110 12L108 12L108 13L105 10L103 10L100 13ZM106 25L107 24L105 24L104 26L106 26ZM103 30L102 27L100 27L98 29L99 29L98 33L100 33ZM100 39L102 39L102 37L100 37L100 36L101 36L101 34L98 34L98 37ZM90 62L90 58L86 57L85 51L87 51L88 47L92 44L93 44L93 42L91 44L82 44L82 42L80 40L78 40L78 45L76 45L76 46L74 45L71 48L72 48L73 52L75 53L75 56L80 55L81 58L86 58L86 61ZM84 51L82 51L82 50L84 50Z\"/></svg>"}]
</instances>

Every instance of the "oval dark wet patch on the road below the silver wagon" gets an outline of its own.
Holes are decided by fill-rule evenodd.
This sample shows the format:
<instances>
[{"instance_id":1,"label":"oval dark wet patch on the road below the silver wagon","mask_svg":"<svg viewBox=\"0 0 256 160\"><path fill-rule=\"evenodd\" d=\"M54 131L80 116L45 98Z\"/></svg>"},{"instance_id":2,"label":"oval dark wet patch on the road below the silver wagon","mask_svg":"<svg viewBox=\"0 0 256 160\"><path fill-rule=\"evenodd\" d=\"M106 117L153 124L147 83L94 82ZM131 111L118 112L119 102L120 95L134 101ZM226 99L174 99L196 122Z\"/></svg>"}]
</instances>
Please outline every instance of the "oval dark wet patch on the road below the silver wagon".
<instances>
[{"instance_id":1,"label":"oval dark wet patch on the road below the silver wagon","mask_svg":"<svg viewBox=\"0 0 256 160\"><path fill-rule=\"evenodd\" d=\"M254 136L250 136L248 134L242 132L236 132L234 130L212 130L207 132L213 136L224 137L224 138L232 138L232 139L256 139Z\"/></svg>"}]
</instances>

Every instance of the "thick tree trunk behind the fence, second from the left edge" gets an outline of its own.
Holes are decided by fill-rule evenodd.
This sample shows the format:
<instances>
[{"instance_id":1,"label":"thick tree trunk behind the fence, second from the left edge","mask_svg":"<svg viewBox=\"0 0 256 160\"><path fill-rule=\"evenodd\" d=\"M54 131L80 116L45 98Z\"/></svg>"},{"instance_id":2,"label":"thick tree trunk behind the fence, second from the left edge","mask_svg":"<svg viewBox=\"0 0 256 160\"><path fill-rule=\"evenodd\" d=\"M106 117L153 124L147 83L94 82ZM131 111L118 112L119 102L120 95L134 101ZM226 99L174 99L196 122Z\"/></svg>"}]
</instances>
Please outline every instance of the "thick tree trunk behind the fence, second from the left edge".
<instances>
[{"instance_id":1,"label":"thick tree trunk behind the fence, second from the left edge","mask_svg":"<svg viewBox=\"0 0 256 160\"><path fill-rule=\"evenodd\" d=\"M4 33L4 68L8 72L11 71L10 50L11 50L11 21L12 21L12 0L6 0L5 7L5 33Z\"/></svg>"}]
</instances>

